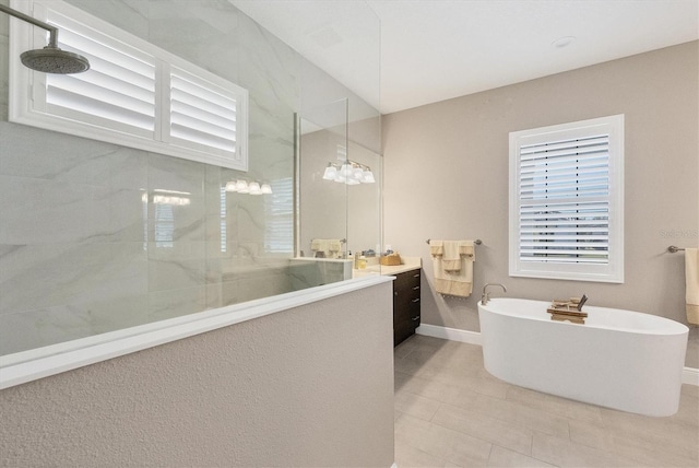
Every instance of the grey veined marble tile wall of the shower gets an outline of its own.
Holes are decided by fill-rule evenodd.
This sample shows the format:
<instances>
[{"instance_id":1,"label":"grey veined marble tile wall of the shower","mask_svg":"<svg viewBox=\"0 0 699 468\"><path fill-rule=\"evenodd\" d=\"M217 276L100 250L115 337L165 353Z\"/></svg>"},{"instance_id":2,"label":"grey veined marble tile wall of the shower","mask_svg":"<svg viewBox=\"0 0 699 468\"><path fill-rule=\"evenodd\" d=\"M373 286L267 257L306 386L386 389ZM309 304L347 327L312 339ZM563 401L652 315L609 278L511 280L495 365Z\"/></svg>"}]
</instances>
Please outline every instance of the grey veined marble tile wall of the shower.
<instances>
[{"instance_id":1,"label":"grey veined marble tile wall of the shower","mask_svg":"<svg viewBox=\"0 0 699 468\"><path fill-rule=\"evenodd\" d=\"M328 282L265 251L270 196L224 194L222 212L227 180L293 177L312 66L225 0L69 2L248 89L249 171L9 122L0 16L0 354Z\"/></svg>"}]
</instances>

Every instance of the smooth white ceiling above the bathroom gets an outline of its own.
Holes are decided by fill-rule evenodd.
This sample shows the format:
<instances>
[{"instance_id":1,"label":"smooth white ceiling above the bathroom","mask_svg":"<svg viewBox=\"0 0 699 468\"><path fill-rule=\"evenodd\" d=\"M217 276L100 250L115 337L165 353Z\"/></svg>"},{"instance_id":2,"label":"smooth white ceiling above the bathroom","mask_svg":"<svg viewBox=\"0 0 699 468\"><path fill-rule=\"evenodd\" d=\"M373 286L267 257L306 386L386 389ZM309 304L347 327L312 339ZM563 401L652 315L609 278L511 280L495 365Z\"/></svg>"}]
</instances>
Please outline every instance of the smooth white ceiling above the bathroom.
<instances>
[{"instance_id":1,"label":"smooth white ceiling above the bathroom","mask_svg":"<svg viewBox=\"0 0 699 468\"><path fill-rule=\"evenodd\" d=\"M699 0L229 1L382 114L699 38Z\"/></svg>"}]
</instances>

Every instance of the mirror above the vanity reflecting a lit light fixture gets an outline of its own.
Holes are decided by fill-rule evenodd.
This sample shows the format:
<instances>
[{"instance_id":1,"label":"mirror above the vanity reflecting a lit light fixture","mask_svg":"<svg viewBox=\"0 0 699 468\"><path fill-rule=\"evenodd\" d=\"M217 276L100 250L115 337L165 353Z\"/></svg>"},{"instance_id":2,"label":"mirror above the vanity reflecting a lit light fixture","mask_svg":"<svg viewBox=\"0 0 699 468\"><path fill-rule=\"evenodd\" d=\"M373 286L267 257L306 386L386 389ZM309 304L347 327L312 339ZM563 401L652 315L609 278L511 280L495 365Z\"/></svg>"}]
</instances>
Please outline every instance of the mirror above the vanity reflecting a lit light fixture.
<instances>
[{"instance_id":1,"label":"mirror above the vanity reflecting a lit light fixture","mask_svg":"<svg viewBox=\"0 0 699 468\"><path fill-rule=\"evenodd\" d=\"M343 100L299 118L297 257L322 268L340 261L342 279L350 279L353 269L377 264L381 251L382 164L347 138L345 106ZM359 265L363 254L367 261Z\"/></svg>"}]
</instances>

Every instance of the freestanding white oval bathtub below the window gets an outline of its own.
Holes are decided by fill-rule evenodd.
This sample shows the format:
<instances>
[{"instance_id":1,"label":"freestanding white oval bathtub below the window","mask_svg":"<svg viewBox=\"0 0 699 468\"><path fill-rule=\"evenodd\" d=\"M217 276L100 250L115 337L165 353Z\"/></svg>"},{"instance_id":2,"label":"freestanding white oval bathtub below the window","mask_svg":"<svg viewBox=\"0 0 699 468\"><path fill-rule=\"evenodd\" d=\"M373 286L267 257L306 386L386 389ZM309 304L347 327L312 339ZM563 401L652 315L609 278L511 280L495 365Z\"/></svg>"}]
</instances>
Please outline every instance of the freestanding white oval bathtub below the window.
<instances>
[{"instance_id":1,"label":"freestanding white oval bathtub below the window","mask_svg":"<svg viewBox=\"0 0 699 468\"><path fill-rule=\"evenodd\" d=\"M554 321L549 302L478 303L485 368L510 384L645 414L677 412L689 329L655 315L584 306Z\"/></svg>"}]
</instances>

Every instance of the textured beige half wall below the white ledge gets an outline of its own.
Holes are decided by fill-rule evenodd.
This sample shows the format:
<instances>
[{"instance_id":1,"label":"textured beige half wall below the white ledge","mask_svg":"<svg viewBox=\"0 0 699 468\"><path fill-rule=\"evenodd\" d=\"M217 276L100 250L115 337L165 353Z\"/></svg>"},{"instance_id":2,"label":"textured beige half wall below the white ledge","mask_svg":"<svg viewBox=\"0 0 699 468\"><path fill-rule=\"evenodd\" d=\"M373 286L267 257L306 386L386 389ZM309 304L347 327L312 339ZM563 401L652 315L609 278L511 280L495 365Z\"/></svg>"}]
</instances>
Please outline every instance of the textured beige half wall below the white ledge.
<instances>
[{"instance_id":1,"label":"textured beige half wall below the white ledge","mask_svg":"<svg viewBox=\"0 0 699 468\"><path fill-rule=\"evenodd\" d=\"M391 283L0 393L0 466L393 463Z\"/></svg>"}]
</instances>

